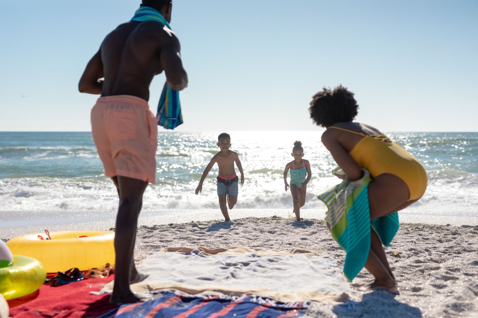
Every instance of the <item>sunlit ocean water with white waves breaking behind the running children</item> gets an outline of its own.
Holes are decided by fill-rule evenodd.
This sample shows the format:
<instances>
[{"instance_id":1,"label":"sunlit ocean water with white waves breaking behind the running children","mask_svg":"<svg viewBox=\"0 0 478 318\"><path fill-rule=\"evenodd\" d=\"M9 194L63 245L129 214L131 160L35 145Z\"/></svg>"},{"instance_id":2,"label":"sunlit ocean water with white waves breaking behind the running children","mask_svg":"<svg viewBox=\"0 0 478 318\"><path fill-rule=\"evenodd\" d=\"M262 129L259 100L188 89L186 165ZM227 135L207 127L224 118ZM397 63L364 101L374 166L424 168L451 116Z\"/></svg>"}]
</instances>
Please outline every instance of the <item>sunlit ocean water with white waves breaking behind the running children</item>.
<instances>
[{"instance_id":1,"label":"sunlit ocean water with white waves breaking behind the running children","mask_svg":"<svg viewBox=\"0 0 478 318\"><path fill-rule=\"evenodd\" d=\"M218 151L220 132L158 134L157 184L144 193L139 224L222 218L216 194L217 166L203 191L195 189ZM245 184L231 218L292 217L292 198L282 173L292 160L293 142L303 142L312 179L301 216L322 218L316 195L340 180L320 142L320 131L237 131L231 150L239 153ZM391 139L419 159L428 174L424 196L401 213L402 222L478 223L478 133L390 132ZM239 171L238 171L239 172ZM391 193L391 195L393 195ZM98 229L114 226L118 207L89 132L0 132L0 237L38 229Z\"/></svg>"}]
</instances>

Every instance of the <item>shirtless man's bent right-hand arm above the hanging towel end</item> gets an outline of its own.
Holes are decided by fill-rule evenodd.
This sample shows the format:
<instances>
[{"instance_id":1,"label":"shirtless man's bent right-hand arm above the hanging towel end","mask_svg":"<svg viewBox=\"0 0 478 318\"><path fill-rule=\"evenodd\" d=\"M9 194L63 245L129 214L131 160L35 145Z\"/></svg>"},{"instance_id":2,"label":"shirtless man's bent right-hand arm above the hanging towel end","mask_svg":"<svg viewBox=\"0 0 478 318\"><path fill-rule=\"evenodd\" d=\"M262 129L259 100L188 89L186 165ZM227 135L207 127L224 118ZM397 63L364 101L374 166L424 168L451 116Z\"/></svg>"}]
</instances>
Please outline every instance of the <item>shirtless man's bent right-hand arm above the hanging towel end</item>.
<instances>
[{"instance_id":1,"label":"shirtless man's bent right-hand arm above the hanging towel end","mask_svg":"<svg viewBox=\"0 0 478 318\"><path fill-rule=\"evenodd\" d=\"M179 53L179 42L171 39L161 47L161 66L163 66L166 80L175 91L182 91L187 87L187 74Z\"/></svg>"}]
</instances>

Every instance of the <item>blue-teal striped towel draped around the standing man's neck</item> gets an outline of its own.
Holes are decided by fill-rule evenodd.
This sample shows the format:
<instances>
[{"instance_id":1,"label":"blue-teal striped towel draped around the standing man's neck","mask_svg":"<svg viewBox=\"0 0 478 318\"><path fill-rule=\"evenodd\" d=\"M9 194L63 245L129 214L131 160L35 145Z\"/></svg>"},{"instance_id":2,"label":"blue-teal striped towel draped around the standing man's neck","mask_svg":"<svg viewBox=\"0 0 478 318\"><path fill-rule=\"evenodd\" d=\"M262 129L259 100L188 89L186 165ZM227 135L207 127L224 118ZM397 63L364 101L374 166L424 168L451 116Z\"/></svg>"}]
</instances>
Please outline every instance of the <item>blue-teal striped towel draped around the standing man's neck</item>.
<instances>
[{"instance_id":1,"label":"blue-teal striped towel draped around the standing man's neck","mask_svg":"<svg viewBox=\"0 0 478 318\"><path fill-rule=\"evenodd\" d=\"M163 18L161 13L151 7L140 7L140 9L134 13L131 21L157 21L171 30L169 23ZM158 125L166 129L174 129L183 123L179 93L172 89L168 82L164 83L163 92L159 98L156 118L158 119Z\"/></svg>"}]
</instances>

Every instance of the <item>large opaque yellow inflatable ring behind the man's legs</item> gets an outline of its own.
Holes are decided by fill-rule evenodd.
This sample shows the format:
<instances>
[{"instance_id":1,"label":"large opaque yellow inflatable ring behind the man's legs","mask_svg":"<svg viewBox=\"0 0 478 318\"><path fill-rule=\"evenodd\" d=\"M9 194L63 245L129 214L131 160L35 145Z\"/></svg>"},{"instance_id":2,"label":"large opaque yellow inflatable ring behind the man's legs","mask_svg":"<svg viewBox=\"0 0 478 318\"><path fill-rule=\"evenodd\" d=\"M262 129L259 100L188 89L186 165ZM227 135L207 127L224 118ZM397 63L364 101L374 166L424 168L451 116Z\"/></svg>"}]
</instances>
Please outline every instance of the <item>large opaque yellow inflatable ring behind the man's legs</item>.
<instances>
[{"instance_id":1,"label":"large opaque yellow inflatable ring behind the man's legs","mask_svg":"<svg viewBox=\"0 0 478 318\"><path fill-rule=\"evenodd\" d=\"M64 231L27 234L7 242L12 254L32 257L42 262L47 273L80 271L115 264L115 233L111 231Z\"/></svg>"}]
</instances>

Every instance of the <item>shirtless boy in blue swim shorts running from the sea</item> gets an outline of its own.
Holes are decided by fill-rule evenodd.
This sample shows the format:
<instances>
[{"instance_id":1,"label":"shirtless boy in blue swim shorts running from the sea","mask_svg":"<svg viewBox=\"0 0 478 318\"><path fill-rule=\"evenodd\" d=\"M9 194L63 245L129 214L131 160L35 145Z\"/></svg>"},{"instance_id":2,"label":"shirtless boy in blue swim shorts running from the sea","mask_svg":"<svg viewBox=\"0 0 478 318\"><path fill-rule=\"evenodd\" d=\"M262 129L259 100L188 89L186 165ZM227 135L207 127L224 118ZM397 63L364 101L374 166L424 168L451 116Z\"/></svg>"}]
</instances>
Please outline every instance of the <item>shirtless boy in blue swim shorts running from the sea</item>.
<instances>
[{"instance_id":1,"label":"shirtless boy in blue swim shorts running from the sea","mask_svg":"<svg viewBox=\"0 0 478 318\"><path fill-rule=\"evenodd\" d=\"M231 137L229 134L222 133L217 137L217 147L221 148L221 150L212 157L203 172L199 185L196 188L197 195L203 189L203 182L206 179L207 174L214 164L217 163L217 166L219 167L219 175L217 176L217 196L219 197L219 207L224 216L224 221L230 221L226 201L228 202L229 210L231 210L238 201L239 177L234 170L234 162L239 169L240 183L244 184L242 165L237 152L229 150L231 145Z\"/></svg>"}]
</instances>

